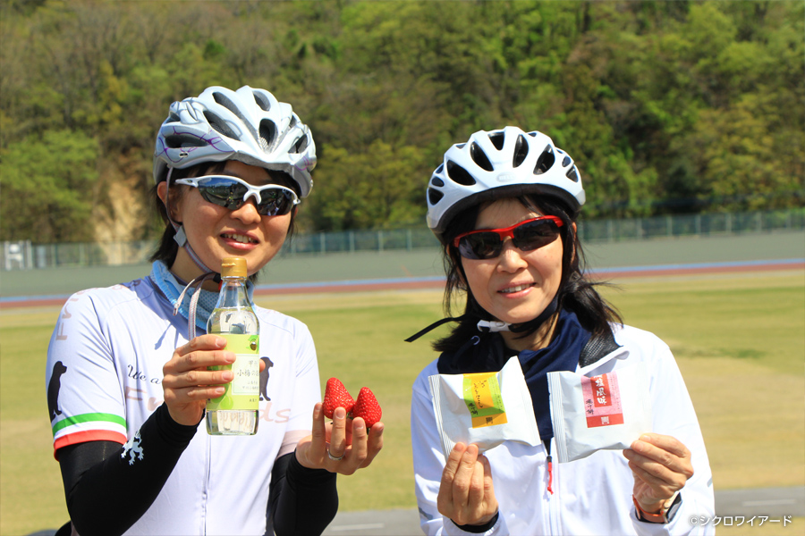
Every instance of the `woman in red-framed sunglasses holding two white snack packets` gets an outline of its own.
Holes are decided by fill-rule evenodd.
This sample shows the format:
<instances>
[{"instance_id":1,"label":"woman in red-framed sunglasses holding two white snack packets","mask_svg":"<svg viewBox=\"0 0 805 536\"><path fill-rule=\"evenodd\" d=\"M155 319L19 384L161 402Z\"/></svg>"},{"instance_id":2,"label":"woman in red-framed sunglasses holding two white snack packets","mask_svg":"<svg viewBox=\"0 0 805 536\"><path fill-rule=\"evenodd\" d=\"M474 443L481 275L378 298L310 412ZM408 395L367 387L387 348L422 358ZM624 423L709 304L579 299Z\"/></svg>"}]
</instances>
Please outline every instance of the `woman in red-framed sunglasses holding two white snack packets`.
<instances>
[{"instance_id":1,"label":"woman in red-framed sunglasses holding two white snack packets","mask_svg":"<svg viewBox=\"0 0 805 536\"><path fill-rule=\"evenodd\" d=\"M712 480L674 357L656 336L624 326L581 267L575 222L585 195L572 158L536 131L481 130L448 149L427 200L428 225L444 247L448 312L457 293L466 299L462 315L442 321L458 323L436 340L441 354L413 388L423 531L712 532L697 523L712 519ZM504 441L479 454L458 443L444 456L428 377L499 371L513 356L530 392L538 446ZM623 451L552 463L547 373L593 376L639 362L648 371L653 430Z\"/></svg>"}]
</instances>

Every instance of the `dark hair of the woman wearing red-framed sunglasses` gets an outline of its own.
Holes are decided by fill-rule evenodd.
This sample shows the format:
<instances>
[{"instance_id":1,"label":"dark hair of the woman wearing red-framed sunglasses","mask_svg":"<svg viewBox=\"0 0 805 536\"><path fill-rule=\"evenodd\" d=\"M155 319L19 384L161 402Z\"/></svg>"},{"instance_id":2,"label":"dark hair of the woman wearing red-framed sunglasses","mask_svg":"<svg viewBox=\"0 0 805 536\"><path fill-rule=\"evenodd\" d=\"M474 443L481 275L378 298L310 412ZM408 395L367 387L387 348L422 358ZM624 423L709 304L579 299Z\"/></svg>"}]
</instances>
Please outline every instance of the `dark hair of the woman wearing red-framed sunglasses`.
<instances>
[{"instance_id":1,"label":"dark hair of the woman wearing red-framed sunglasses","mask_svg":"<svg viewBox=\"0 0 805 536\"><path fill-rule=\"evenodd\" d=\"M573 227L575 218L572 218L567 205L557 197L526 195L516 197L523 206L531 211L540 214L554 215L562 219L564 225L560 228L560 238L563 244L562 255L562 278L559 282L557 299L559 308L566 309L575 313L582 327L591 331L595 335L606 333L610 323L623 323L620 314L597 292L597 285L603 284L589 281L584 273L584 252L582 251L579 237ZM461 321L453 328L453 331L442 339L437 339L433 343L433 348L439 352L454 352L473 335L477 335L479 320L492 320L492 315L487 313L472 296L472 291L467 286L467 278L462 266L462 257L458 249L453 246L453 239L462 232L474 230L478 220L478 214L482 205L470 206L461 214L458 214L447 230L444 240L447 246L443 250L443 262L447 283L445 286L444 307L446 314L452 316L453 305L455 304L456 294L466 293L464 311ZM523 336L528 336L538 330L535 326L530 331L525 331Z\"/></svg>"}]
</instances>

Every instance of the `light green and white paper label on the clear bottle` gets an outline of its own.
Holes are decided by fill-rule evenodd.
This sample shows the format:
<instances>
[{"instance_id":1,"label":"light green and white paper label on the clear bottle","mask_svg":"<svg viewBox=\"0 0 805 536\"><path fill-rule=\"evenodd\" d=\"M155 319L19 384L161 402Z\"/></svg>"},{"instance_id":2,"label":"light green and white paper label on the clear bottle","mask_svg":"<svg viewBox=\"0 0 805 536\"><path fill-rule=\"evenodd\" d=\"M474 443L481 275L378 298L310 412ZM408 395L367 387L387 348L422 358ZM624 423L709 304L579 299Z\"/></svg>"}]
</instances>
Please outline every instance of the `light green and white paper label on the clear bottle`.
<instances>
[{"instance_id":1,"label":"light green and white paper label on the clear bottle","mask_svg":"<svg viewBox=\"0 0 805 536\"><path fill-rule=\"evenodd\" d=\"M225 366L211 366L210 370L230 369L233 381L227 383L225 393L207 401L207 410L256 410L260 401L260 342L259 335L216 333L226 339L225 349L235 353L235 362Z\"/></svg>"}]
</instances>

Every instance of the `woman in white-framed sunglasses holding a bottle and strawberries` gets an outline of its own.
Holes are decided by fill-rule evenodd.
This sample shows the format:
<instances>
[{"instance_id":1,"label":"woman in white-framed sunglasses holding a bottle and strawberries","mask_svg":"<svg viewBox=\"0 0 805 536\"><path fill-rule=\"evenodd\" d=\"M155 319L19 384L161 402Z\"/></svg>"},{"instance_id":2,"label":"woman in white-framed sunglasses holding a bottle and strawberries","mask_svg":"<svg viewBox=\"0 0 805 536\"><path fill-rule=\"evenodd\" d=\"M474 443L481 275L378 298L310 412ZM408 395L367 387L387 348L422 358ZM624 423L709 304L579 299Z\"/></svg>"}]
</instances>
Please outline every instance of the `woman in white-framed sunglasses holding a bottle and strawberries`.
<instances>
[{"instance_id":1,"label":"woman in white-framed sunglasses holding a bottle and strawberries","mask_svg":"<svg viewBox=\"0 0 805 536\"><path fill-rule=\"evenodd\" d=\"M216 272L241 256L253 289L292 233L315 164L308 127L264 89L212 87L170 106L154 156L165 233L150 274L70 297L48 348L72 520L60 533L318 534L338 507L335 473L377 456L383 424L369 433L357 418L347 431L343 408L325 423L308 329L261 307L257 434L199 426L232 380L208 370L234 360L205 332Z\"/></svg>"}]
</instances>

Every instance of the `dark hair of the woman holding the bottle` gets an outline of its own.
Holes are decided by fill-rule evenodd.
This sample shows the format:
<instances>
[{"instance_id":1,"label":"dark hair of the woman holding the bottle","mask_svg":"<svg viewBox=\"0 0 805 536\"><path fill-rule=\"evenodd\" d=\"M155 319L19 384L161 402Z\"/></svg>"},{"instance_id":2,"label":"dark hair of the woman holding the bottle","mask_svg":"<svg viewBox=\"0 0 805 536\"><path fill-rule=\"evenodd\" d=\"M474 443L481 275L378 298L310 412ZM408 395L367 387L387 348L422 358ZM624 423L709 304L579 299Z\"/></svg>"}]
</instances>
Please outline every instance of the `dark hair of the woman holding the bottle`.
<instances>
[{"instance_id":1,"label":"dark hair of the woman holding the bottle","mask_svg":"<svg viewBox=\"0 0 805 536\"><path fill-rule=\"evenodd\" d=\"M169 180L170 185L168 188L168 192L171 196L170 202L171 205L175 205L182 196L182 188L179 188L174 185L174 182L179 179L186 179L188 177L201 177L202 175L216 175L224 172L226 167L226 162L205 162L193 165L187 169L177 169L173 168L173 172L170 174ZM286 188L291 188L294 192L296 192L297 196L301 195L301 191L299 189L299 185L296 183L295 180L292 180L291 175L285 172L277 172L274 170L267 170L268 173L271 175L271 179L275 181L275 183L284 186ZM174 230L174 226L171 224L170 219L168 218L167 210L165 209L165 204L162 202L162 199L159 198L157 195L157 185L151 188L150 191L151 203L154 205L154 208L157 210L157 214L162 219L162 222L165 223L165 230L162 232L162 238L159 239L159 243L157 244L157 249L154 253L148 258L150 262L154 261L162 261L165 265L170 268L174 261L176 260L176 254L179 252L179 245L174 240L174 236L176 235L176 230ZM292 239L293 233L296 230L296 209L294 208L291 211L291 222L288 225L288 234L285 235L285 240L290 241ZM252 274L250 276L251 281L257 280L258 274Z\"/></svg>"}]
</instances>

